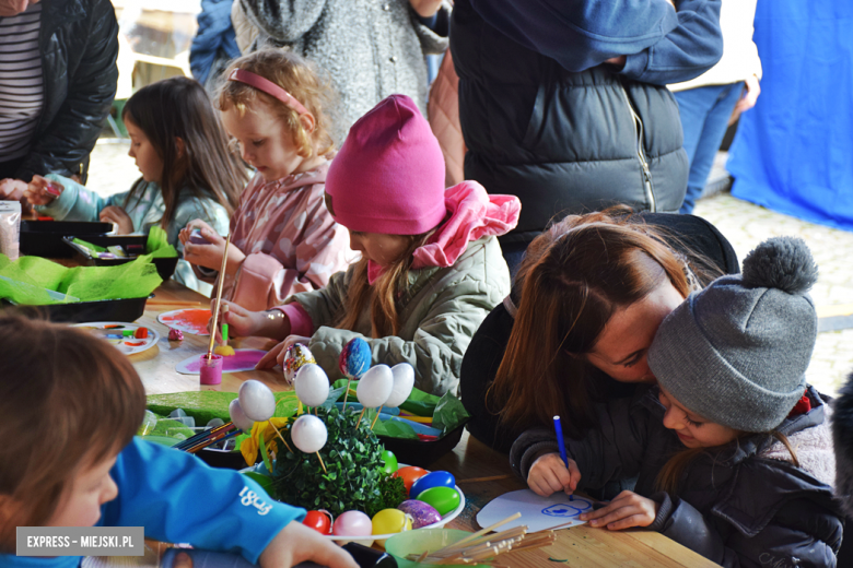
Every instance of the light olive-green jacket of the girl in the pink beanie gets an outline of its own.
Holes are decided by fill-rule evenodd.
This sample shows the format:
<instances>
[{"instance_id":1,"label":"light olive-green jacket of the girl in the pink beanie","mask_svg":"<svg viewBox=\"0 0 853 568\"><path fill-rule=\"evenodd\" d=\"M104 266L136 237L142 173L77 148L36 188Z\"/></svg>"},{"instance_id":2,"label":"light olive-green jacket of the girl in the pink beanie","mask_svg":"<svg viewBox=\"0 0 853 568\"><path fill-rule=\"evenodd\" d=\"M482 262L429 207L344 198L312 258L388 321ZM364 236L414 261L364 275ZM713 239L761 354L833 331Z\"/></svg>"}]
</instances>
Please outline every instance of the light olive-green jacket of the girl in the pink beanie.
<instances>
[{"instance_id":1,"label":"light olive-green jacket of the girl in the pink beanie","mask_svg":"<svg viewBox=\"0 0 853 568\"><path fill-rule=\"evenodd\" d=\"M370 339L370 305L359 318L358 330L335 324L343 309L354 268L334 274L322 289L295 294L314 324L308 347L331 380L342 377L338 357L353 338L371 346L373 363L414 367L414 386L422 391L456 393L463 355L480 322L510 293L510 271L495 237L468 245L449 268L426 268L409 273L409 294L401 300L399 335Z\"/></svg>"}]
</instances>

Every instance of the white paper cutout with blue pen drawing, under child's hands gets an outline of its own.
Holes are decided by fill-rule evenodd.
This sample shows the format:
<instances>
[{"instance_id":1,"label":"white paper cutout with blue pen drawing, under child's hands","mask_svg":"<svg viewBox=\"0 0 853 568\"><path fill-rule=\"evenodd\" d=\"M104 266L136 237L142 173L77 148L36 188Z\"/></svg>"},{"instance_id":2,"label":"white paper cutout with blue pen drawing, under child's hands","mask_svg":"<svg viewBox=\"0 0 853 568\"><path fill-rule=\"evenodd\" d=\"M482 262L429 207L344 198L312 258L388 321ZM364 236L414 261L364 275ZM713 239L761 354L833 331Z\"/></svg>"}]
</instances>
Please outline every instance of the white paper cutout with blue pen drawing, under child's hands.
<instances>
[{"instance_id":1,"label":"white paper cutout with blue pen drawing, under child's hands","mask_svg":"<svg viewBox=\"0 0 853 568\"><path fill-rule=\"evenodd\" d=\"M511 514L521 512L519 519L506 523L501 526L501 530L505 531L525 524L528 532L535 532L571 523L563 526L563 529L569 529L584 524L586 521L579 520L577 516L592 510L593 501L585 497L565 495L564 493L540 497L530 489L521 489L505 493L491 500L477 513L477 523L480 526L491 526Z\"/></svg>"}]
</instances>

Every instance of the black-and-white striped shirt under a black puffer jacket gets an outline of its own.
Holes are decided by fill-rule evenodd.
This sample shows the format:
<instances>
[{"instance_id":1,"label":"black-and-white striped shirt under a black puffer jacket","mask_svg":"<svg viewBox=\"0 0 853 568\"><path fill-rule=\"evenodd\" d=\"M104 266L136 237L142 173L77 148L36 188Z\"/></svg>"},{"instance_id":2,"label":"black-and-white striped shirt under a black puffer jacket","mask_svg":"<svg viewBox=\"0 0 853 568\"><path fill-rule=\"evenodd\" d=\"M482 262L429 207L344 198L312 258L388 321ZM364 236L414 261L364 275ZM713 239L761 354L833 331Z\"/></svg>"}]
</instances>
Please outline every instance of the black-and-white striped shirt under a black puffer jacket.
<instances>
[{"instance_id":1,"label":"black-and-white striped shirt under a black puffer jacket","mask_svg":"<svg viewBox=\"0 0 853 568\"><path fill-rule=\"evenodd\" d=\"M0 162L24 156L44 104L38 32L42 4L0 17Z\"/></svg>"}]
</instances>

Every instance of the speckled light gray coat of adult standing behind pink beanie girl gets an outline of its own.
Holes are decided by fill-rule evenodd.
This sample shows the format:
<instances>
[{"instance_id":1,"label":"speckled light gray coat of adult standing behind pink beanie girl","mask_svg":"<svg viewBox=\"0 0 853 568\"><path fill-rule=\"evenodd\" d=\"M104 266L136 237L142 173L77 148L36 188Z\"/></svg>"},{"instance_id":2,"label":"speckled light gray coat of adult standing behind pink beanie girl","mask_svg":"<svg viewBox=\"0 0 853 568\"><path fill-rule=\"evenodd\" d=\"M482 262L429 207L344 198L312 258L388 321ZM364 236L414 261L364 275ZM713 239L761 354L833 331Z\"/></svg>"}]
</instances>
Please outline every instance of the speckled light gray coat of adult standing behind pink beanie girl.
<instances>
[{"instance_id":1,"label":"speckled light gray coat of adult standing behind pink beanie girl","mask_svg":"<svg viewBox=\"0 0 853 568\"><path fill-rule=\"evenodd\" d=\"M426 54L448 45L451 3L439 10L435 32L408 0L241 0L260 31L255 48L289 46L329 73L340 96L336 139L388 95L400 93L426 116Z\"/></svg>"}]
</instances>

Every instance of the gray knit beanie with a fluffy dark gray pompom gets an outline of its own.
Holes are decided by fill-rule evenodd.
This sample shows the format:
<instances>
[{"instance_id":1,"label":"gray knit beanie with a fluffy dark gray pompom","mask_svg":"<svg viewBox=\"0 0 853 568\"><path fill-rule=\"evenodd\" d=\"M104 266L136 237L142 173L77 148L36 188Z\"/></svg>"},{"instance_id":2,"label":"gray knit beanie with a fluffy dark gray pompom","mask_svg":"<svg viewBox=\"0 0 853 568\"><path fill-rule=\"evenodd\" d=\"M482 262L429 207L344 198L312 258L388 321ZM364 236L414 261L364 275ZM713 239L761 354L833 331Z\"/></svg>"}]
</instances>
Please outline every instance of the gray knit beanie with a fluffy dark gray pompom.
<instances>
[{"instance_id":1,"label":"gray knit beanie with a fluffy dark gray pompom","mask_svg":"<svg viewBox=\"0 0 853 568\"><path fill-rule=\"evenodd\" d=\"M690 296L657 330L648 367L685 407L743 431L769 431L803 397L817 339L807 292L817 265L793 237L766 240Z\"/></svg>"}]
</instances>

